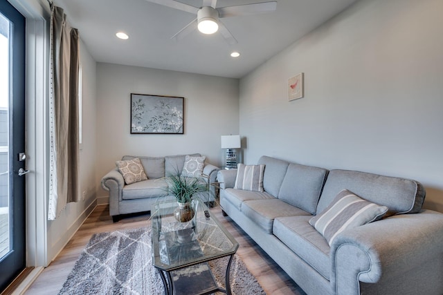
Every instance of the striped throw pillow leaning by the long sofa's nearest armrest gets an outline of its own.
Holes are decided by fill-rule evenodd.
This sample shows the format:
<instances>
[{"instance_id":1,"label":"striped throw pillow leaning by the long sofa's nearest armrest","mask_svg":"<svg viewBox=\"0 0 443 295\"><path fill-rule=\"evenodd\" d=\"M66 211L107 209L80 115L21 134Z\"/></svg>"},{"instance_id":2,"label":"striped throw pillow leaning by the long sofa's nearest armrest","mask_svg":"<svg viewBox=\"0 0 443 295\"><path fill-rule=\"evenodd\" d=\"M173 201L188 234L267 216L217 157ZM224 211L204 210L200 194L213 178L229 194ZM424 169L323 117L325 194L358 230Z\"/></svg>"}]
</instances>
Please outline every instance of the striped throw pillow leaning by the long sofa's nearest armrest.
<instances>
[{"instance_id":1,"label":"striped throw pillow leaning by the long sofa's nearest armrest","mask_svg":"<svg viewBox=\"0 0 443 295\"><path fill-rule=\"evenodd\" d=\"M343 189L323 212L309 220L309 224L325 237L330 246L341 231L379 220L387 211L388 207L368 202Z\"/></svg>"}]
</instances>

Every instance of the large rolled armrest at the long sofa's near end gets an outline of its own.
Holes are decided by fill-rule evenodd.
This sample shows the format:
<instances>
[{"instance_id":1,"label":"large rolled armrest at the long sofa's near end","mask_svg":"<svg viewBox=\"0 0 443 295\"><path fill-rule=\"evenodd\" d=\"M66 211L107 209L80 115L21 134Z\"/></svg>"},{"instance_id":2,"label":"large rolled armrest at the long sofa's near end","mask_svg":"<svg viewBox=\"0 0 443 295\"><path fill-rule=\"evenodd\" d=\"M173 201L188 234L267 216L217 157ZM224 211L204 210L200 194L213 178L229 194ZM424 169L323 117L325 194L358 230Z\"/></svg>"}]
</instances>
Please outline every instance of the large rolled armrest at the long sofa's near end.
<instances>
[{"instance_id":1,"label":"large rolled armrest at the long sofa's near end","mask_svg":"<svg viewBox=\"0 0 443 295\"><path fill-rule=\"evenodd\" d=\"M415 268L422 272L426 263L442 258L442 245L443 214L431 210L345 230L331 247L332 287L336 294L360 294L359 281L401 278Z\"/></svg>"}]
</instances>

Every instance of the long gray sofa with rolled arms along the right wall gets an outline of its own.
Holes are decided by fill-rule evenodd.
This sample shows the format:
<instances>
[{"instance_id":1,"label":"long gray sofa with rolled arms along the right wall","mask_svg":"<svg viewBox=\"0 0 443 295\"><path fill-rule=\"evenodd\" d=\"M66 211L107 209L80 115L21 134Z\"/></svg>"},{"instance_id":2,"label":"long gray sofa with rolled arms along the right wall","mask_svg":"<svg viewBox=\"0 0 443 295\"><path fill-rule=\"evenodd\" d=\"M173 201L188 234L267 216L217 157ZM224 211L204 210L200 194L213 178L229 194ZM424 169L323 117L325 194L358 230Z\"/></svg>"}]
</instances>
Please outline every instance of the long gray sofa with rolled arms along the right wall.
<instances>
[{"instance_id":1,"label":"long gray sofa with rolled arms along the right wall","mask_svg":"<svg viewBox=\"0 0 443 295\"><path fill-rule=\"evenodd\" d=\"M218 172L221 207L307 294L443 294L443 214L422 209L419 182L266 156L258 164L264 192L233 189L237 171ZM309 220L342 189L388 217L329 246Z\"/></svg>"}]
</instances>

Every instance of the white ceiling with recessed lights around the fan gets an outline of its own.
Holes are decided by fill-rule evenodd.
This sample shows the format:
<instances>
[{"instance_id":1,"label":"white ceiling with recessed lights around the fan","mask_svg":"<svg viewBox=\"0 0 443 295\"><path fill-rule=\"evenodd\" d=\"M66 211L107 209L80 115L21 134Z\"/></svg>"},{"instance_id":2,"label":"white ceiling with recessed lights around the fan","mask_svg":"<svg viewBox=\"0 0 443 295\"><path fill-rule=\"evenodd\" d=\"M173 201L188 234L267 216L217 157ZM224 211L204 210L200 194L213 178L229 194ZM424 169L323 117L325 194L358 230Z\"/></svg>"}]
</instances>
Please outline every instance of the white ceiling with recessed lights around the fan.
<instances>
[{"instance_id":1,"label":"white ceiling with recessed lights around the fan","mask_svg":"<svg viewBox=\"0 0 443 295\"><path fill-rule=\"evenodd\" d=\"M219 0L217 7L265 0ZM230 46L197 30L174 41L195 15L145 0L55 0L96 61L240 78L356 0L278 0L264 15L222 19L238 40ZM181 0L200 7L202 0ZM124 31L129 39L116 37ZM230 57L232 51L240 57Z\"/></svg>"}]
</instances>

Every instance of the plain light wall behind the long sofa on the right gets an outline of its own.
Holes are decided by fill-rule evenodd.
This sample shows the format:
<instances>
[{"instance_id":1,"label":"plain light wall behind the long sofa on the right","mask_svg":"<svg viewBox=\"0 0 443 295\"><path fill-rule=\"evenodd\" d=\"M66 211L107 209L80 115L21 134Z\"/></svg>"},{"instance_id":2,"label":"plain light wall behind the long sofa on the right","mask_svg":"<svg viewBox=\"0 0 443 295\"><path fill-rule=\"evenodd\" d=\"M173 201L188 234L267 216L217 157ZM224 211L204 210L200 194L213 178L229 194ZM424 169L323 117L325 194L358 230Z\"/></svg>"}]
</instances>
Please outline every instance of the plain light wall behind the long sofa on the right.
<instances>
[{"instance_id":1,"label":"plain light wall behind the long sofa on the right","mask_svg":"<svg viewBox=\"0 0 443 295\"><path fill-rule=\"evenodd\" d=\"M443 1L359 1L240 81L246 163L413 178L443 211ZM287 80L305 73L305 97Z\"/></svg>"}]
</instances>

